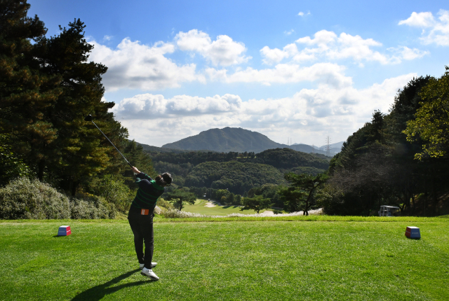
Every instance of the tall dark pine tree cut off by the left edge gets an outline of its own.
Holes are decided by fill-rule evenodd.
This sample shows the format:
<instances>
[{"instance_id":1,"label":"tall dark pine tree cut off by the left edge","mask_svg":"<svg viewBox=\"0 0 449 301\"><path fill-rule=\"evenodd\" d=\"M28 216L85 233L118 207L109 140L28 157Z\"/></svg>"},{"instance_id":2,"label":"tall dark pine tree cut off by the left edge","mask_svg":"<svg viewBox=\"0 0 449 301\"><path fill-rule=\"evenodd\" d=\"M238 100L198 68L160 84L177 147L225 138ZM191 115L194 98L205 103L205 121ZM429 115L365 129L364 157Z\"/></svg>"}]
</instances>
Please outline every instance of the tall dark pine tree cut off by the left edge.
<instances>
[{"instance_id":1,"label":"tall dark pine tree cut off by the left edge","mask_svg":"<svg viewBox=\"0 0 449 301\"><path fill-rule=\"evenodd\" d=\"M53 149L58 137L44 111L61 93L60 76L41 73L36 45L46 28L27 17L28 9L26 1L0 1L0 134L8 134L11 151L39 162L45 156L39 148Z\"/></svg>"}]
</instances>

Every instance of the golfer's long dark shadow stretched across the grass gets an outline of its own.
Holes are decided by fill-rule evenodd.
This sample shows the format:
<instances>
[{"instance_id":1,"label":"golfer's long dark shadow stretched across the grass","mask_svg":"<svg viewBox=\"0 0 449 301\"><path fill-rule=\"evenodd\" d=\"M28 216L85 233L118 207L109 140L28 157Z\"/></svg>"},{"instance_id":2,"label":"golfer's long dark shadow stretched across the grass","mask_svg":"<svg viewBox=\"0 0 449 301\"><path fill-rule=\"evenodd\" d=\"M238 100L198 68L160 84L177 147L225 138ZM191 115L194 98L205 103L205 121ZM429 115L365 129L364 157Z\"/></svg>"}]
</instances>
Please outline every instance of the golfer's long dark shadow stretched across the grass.
<instances>
[{"instance_id":1,"label":"golfer's long dark shadow stretched across the grass","mask_svg":"<svg viewBox=\"0 0 449 301\"><path fill-rule=\"evenodd\" d=\"M130 286L140 286L144 283L148 283L149 281L135 281L131 283L121 284L120 286L112 286L115 283L119 283L121 280L128 278L135 272L140 271L140 269L134 269L133 271L127 272L125 274L121 274L120 276L116 276L114 279L107 281L106 283L100 284L98 286L94 286L93 288L89 288L88 290L84 290L83 293L79 293L76 295L72 301L98 301L101 300L105 295L109 295L115 293L117 290L121 290L122 288L128 288Z\"/></svg>"}]
</instances>

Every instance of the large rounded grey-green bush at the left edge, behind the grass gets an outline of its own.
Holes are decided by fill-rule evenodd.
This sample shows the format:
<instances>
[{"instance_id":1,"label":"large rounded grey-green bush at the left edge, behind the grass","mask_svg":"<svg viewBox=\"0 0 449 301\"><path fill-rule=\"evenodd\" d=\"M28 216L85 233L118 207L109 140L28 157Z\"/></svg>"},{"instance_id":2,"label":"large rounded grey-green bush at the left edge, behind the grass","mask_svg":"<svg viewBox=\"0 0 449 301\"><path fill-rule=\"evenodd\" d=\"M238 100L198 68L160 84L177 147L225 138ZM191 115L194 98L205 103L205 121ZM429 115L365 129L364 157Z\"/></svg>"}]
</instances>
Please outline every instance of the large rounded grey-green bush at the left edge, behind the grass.
<instances>
[{"instance_id":1,"label":"large rounded grey-green bush at the left edge, behind the grass","mask_svg":"<svg viewBox=\"0 0 449 301\"><path fill-rule=\"evenodd\" d=\"M70 218L69 198L47 183L18 178L0 188L0 218Z\"/></svg>"}]
</instances>

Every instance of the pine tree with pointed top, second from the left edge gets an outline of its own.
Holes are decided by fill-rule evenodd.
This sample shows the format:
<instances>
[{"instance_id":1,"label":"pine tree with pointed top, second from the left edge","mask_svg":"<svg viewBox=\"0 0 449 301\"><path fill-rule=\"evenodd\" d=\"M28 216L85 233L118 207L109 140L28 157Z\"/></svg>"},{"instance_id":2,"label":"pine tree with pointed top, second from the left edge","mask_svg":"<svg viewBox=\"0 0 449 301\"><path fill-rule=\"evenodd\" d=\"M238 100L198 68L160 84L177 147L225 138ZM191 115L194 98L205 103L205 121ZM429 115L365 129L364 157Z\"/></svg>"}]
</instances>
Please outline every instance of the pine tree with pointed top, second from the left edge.
<instances>
[{"instance_id":1,"label":"pine tree with pointed top, second from the left edge","mask_svg":"<svg viewBox=\"0 0 449 301\"><path fill-rule=\"evenodd\" d=\"M68 29L60 27L58 36L40 43L43 71L62 76L62 94L46 111L46 118L58 129L59 151L58 162L47 167L72 194L81 181L105 170L116 173L121 166L120 155L84 117L91 113L95 124L116 145L128 137L127 130L108 112L114 103L102 102L105 88L101 76L107 67L88 62L93 45L84 38L85 27L81 20L74 20Z\"/></svg>"}]
</instances>

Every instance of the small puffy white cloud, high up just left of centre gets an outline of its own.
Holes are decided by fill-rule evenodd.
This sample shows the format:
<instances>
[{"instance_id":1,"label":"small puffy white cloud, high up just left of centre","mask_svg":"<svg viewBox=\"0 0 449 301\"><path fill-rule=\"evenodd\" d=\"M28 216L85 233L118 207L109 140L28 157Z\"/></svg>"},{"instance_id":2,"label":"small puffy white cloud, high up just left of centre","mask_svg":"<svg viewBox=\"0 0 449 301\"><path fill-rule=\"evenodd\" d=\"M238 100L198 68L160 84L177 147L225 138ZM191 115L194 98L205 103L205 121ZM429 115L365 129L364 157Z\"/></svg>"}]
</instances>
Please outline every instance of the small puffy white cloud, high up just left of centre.
<instances>
[{"instance_id":1,"label":"small puffy white cloud, high up just left of centre","mask_svg":"<svg viewBox=\"0 0 449 301\"><path fill-rule=\"evenodd\" d=\"M175 42L182 51L199 52L203 57L215 65L230 66L247 62L251 57L243 55L245 44L235 42L226 35L217 36L215 41L198 29L178 33Z\"/></svg>"}]
</instances>

